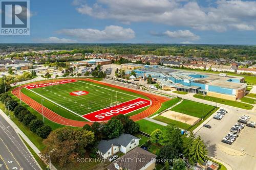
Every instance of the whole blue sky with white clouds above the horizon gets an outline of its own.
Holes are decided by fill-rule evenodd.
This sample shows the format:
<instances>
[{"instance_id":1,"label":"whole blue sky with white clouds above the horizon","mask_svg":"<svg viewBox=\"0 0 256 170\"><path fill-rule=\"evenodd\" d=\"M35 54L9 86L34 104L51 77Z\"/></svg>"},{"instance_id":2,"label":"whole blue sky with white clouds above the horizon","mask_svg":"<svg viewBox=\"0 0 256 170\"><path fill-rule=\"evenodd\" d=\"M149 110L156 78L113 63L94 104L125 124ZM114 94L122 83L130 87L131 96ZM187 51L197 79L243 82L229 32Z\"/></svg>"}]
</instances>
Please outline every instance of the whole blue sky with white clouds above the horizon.
<instances>
[{"instance_id":1,"label":"whole blue sky with white clouds above the horizon","mask_svg":"<svg viewBox=\"0 0 256 170\"><path fill-rule=\"evenodd\" d=\"M30 36L1 43L256 44L255 1L31 0Z\"/></svg>"}]
</instances>

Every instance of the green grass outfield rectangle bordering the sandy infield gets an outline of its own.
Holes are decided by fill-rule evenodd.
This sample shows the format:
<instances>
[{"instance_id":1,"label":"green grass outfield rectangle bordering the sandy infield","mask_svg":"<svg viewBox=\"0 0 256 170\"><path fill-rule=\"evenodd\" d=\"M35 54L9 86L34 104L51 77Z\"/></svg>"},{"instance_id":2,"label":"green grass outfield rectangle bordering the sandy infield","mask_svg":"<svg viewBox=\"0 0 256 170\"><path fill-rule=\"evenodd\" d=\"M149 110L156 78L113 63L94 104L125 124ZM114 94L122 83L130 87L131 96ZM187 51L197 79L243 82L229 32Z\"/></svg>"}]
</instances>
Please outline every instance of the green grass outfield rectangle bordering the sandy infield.
<instances>
[{"instance_id":1,"label":"green grass outfield rectangle bordering the sandy infield","mask_svg":"<svg viewBox=\"0 0 256 170\"><path fill-rule=\"evenodd\" d=\"M214 106L184 100L179 105L170 110L200 118L214 108Z\"/></svg>"}]
</instances>

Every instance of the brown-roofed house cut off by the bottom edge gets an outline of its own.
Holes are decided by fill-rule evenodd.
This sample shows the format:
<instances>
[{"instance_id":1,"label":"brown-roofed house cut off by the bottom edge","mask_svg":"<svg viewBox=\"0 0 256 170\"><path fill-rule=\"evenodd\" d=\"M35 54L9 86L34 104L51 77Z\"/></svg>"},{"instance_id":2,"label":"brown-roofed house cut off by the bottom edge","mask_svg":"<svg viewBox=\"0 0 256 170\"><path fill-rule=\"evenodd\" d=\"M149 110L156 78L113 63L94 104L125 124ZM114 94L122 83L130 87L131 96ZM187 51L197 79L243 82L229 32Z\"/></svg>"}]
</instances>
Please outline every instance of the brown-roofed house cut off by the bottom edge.
<instances>
[{"instance_id":1,"label":"brown-roofed house cut off by the bottom edge","mask_svg":"<svg viewBox=\"0 0 256 170\"><path fill-rule=\"evenodd\" d=\"M156 167L156 157L156 155L137 147L131 152L114 160L114 162L106 168L108 168L108 170L153 170Z\"/></svg>"}]
</instances>

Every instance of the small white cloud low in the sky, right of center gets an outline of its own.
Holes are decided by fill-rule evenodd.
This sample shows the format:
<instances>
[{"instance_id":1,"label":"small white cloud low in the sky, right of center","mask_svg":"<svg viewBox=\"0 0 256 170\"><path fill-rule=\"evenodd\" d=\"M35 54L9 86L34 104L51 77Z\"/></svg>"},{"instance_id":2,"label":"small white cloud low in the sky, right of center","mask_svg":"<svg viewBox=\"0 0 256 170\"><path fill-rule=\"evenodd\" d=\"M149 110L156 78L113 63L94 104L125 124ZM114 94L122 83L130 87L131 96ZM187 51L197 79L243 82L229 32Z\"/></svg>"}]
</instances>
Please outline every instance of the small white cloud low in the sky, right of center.
<instances>
[{"instance_id":1,"label":"small white cloud low in the sky, right of center","mask_svg":"<svg viewBox=\"0 0 256 170\"><path fill-rule=\"evenodd\" d=\"M165 31L163 35L166 35L170 38L183 38L183 39L190 39L190 40L198 40L200 39L199 36L191 33L189 30L178 30L178 31Z\"/></svg>"}]
</instances>

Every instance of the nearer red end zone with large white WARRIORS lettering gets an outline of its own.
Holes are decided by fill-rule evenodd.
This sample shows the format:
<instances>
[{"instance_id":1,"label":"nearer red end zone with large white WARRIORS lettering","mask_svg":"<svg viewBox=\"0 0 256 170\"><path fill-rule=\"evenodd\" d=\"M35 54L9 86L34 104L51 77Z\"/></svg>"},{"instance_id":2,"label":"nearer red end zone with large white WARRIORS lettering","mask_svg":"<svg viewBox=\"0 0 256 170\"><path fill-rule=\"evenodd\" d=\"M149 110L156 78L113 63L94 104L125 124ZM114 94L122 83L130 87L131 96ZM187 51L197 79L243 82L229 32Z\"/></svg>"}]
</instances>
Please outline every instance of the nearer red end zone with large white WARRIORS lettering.
<instances>
[{"instance_id":1,"label":"nearer red end zone with large white WARRIORS lettering","mask_svg":"<svg viewBox=\"0 0 256 170\"><path fill-rule=\"evenodd\" d=\"M104 108L101 110L97 110L95 112L84 114L82 116L87 120L89 120L90 122L105 122L111 119L111 117L115 115L129 114L150 105L152 105L152 101L142 99L142 98L137 98L131 101L123 102L114 107Z\"/></svg>"}]
</instances>

